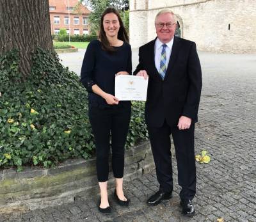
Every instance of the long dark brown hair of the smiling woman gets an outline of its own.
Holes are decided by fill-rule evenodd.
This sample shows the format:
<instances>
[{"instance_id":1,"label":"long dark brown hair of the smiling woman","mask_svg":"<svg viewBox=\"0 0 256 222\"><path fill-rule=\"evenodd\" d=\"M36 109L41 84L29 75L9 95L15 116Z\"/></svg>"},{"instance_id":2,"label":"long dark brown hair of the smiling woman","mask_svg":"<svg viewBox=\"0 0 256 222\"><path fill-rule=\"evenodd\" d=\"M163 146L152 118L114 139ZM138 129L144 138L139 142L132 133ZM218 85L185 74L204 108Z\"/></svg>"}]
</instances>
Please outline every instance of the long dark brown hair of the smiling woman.
<instances>
[{"instance_id":1,"label":"long dark brown hair of the smiling woman","mask_svg":"<svg viewBox=\"0 0 256 222\"><path fill-rule=\"evenodd\" d=\"M113 52L115 51L114 47L112 47L109 42L108 42L108 38L106 36L106 33L104 31L104 27L103 27L103 19L104 19L104 16L108 13L114 13L117 17L118 17L118 21L119 21L119 24L120 24L120 28L119 28L119 31L118 31L118 35L117 35L117 38L119 40L122 40L124 42L129 42L129 38L128 38L128 35L127 35L127 32L124 28L124 23L118 13L118 11L115 9L115 8L107 8L101 15L101 18L100 18L100 32L99 32L99 39L100 39L100 42L101 42L101 45L102 45L102 49L104 51L109 51L109 52Z\"/></svg>"}]
</instances>

